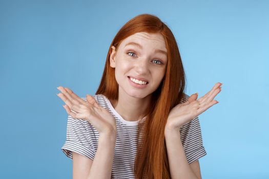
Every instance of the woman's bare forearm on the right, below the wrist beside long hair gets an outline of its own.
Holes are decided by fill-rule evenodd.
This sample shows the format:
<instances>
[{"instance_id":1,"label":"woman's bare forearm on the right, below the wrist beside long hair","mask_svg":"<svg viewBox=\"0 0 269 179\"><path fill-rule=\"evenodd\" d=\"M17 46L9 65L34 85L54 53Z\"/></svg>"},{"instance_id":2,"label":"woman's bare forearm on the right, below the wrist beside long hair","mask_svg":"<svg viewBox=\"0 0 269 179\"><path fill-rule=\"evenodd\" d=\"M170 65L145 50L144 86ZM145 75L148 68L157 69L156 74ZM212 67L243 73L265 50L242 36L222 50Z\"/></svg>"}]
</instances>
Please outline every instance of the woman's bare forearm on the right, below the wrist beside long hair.
<instances>
[{"instance_id":1,"label":"woman's bare forearm on the right, below the wrist beside long hair","mask_svg":"<svg viewBox=\"0 0 269 179\"><path fill-rule=\"evenodd\" d=\"M164 136L171 178L197 179L186 159L180 132L175 129L165 129Z\"/></svg>"}]
</instances>

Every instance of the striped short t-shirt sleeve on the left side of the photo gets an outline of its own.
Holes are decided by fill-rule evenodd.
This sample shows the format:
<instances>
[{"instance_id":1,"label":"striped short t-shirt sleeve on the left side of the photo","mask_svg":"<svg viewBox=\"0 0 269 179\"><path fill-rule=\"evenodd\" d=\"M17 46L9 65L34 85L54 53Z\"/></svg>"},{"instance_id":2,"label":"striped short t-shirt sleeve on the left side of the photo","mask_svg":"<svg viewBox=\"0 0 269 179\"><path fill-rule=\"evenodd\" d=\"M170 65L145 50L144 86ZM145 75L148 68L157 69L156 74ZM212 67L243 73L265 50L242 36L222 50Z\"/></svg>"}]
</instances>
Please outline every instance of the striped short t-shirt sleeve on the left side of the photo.
<instances>
[{"instance_id":1,"label":"striped short t-shirt sleeve on the left side of the photo","mask_svg":"<svg viewBox=\"0 0 269 179\"><path fill-rule=\"evenodd\" d=\"M91 145L89 135L86 130L85 120L74 119L70 115L67 120L66 142L61 150L70 159L73 159L72 152L77 152L81 155L88 156L91 160L94 159L94 151Z\"/></svg>"}]
</instances>

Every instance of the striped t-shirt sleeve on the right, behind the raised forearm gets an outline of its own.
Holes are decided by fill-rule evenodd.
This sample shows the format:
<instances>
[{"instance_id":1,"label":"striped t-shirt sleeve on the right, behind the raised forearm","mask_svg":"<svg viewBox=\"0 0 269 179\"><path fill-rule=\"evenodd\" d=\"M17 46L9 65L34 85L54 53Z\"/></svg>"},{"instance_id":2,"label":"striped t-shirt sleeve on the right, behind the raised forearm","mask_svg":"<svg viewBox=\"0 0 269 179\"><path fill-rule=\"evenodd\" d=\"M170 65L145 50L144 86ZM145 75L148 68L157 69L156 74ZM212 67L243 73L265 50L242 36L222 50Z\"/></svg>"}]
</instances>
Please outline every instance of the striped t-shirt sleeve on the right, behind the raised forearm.
<instances>
[{"instance_id":1,"label":"striped t-shirt sleeve on the right, behind the raised forearm","mask_svg":"<svg viewBox=\"0 0 269 179\"><path fill-rule=\"evenodd\" d=\"M187 101L188 98L189 96L185 94L183 102ZM189 164L206 155L198 117L180 128L180 139Z\"/></svg>"}]
</instances>

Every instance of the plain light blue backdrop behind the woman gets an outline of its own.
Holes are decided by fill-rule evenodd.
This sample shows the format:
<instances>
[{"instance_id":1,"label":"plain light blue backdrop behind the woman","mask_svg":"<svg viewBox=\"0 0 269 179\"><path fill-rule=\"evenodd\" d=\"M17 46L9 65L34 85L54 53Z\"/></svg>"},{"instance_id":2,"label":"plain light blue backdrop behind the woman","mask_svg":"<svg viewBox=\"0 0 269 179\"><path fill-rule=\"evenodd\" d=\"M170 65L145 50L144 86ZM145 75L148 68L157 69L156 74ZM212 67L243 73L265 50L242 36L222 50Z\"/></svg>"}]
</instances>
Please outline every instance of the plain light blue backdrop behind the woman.
<instances>
[{"instance_id":1,"label":"plain light blue backdrop behind the woman","mask_svg":"<svg viewBox=\"0 0 269 179\"><path fill-rule=\"evenodd\" d=\"M269 178L268 9L259 0L1 1L1 178L72 178L56 87L95 94L111 41L142 13L174 33L185 93L223 83L199 116L202 178Z\"/></svg>"}]
</instances>

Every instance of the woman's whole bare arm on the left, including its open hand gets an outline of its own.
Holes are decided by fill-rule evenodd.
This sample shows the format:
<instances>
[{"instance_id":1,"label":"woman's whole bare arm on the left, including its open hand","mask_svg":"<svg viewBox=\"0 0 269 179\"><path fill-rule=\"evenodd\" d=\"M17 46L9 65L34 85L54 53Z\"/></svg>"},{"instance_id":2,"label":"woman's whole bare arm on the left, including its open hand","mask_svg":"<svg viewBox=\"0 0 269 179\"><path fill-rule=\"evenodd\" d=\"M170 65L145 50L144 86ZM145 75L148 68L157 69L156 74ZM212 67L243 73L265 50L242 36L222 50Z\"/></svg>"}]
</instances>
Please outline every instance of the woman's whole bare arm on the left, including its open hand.
<instances>
[{"instance_id":1,"label":"woman's whole bare arm on the left, including its open hand","mask_svg":"<svg viewBox=\"0 0 269 179\"><path fill-rule=\"evenodd\" d=\"M94 160L89 161L79 156L79 162L75 159L74 177L86 178L89 169L85 169L82 174L81 162L90 166L89 178L111 178L112 163L117 136L117 126L114 116L109 110L100 106L91 95L86 95L87 101L77 96L71 89L59 86L57 87L62 93L57 94L66 104L63 105L67 113L74 119L86 120L93 125L99 132L98 148ZM77 156L77 155L76 155ZM83 166L82 168L85 168ZM77 176L79 175L79 176Z\"/></svg>"}]
</instances>

